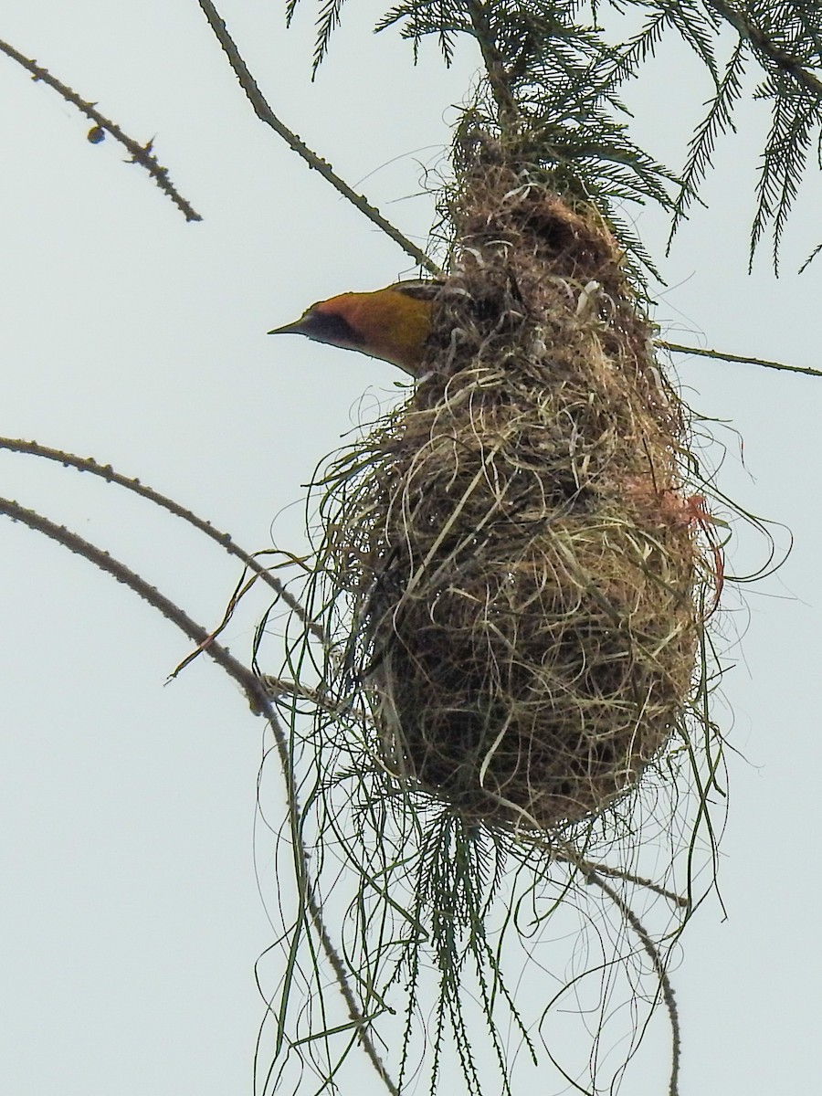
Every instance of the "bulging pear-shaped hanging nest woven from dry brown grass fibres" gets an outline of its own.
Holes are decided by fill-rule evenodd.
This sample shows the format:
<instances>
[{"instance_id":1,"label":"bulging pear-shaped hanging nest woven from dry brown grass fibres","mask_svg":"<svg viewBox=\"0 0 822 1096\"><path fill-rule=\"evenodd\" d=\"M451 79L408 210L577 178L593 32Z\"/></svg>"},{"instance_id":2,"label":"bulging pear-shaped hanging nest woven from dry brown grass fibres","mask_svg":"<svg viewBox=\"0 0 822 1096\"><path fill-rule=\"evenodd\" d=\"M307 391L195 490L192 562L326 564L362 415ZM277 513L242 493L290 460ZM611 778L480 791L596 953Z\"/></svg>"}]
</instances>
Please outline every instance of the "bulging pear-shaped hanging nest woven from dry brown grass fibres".
<instances>
[{"instance_id":1,"label":"bulging pear-shaped hanging nest woven from dry brown grass fibres","mask_svg":"<svg viewBox=\"0 0 822 1096\"><path fill-rule=\"evenodd\" d=\"M346 463L328 564L379 765L551 830L633 787L688 700L685 426L590 207L493 169L452 215L427 376Z\"/></svg>"}]
</instances>

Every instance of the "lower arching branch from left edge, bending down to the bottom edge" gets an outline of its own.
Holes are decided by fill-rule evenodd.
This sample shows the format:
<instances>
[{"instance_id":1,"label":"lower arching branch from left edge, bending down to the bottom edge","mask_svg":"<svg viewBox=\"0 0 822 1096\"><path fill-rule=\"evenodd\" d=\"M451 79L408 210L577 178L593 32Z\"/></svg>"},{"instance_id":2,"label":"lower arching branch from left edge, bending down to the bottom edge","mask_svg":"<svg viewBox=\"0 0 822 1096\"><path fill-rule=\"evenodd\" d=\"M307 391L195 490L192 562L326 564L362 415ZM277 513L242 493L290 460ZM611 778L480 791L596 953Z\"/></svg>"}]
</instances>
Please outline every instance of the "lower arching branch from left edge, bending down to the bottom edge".
<instances>
[{"instance_id":1,"label":"lower arching branch from left edge, bending down to the bottom edge","mask_svg":"<svg viewBox=\"0 0 822 1096\"><path fill-rule=\"evenodd\" d=\"M209 633L205 628L198 625L195 620L192 620L192 618L183 609L165 597L164 594L161 594L155 586L149 585L145 579L141 579L139 574L132 571L124 563L121 563L119 560L114 559L114 557L110 556L109 552L103 551L95 545L90 544L88 540L84 540L82 537L72 533L70 529L67 529L65 526L56 525L47 517L37 514L33 510L27 510L9 499L0 498L0 514L7 514L13 522L21 522L24 525L27 525L28 528L44 534L44 536L47 536L49 539L56 540L65 548L68 548L69 551L76 552L77 555L89 560L89 562L94 563L95 567L99 567L102 571L111 574L112 578L117 580L117 582L122 582L124 585L134 591L134 593L136 593L139 597L148 602L149 605L161 613L168 620L171 620L172 624L176 625L176 627L180 628L180 630L183 631L193 642L205 644L206 640L208 640ZM277 754L279 756L279 763L286 781L286 797L289 825L295 850L298 894L308 907L311 922L318 936L320 937L320 943L323 951L326 952L326 957L334 971L340 985L340 991L346 1005L349 1006L351 1019L356 1028L359 1043L367 1053L375 1070L379 1074L391 1096L398 1096L397 1086L388 1075L372 1038L368 1035L368 1021L359 1011L354 993L349 984L345 967L336 949L331 943L323 922L320 903L308 878L308 854L302 842L302 817L299 810L299 799L294 777L294 767L290 762L288 740L269 699L266 686L256 676L256 674L252 673L252 671L235 659L235 657L220 643L210 641L204 647L204 649L210 658L214 659L214 661L217 662L218 665L220 665L226 673L239 684L248 697L251 710L255 715L264 716L272 729Z\"/></svg>"}]
</instances>

